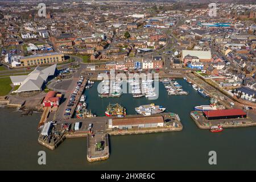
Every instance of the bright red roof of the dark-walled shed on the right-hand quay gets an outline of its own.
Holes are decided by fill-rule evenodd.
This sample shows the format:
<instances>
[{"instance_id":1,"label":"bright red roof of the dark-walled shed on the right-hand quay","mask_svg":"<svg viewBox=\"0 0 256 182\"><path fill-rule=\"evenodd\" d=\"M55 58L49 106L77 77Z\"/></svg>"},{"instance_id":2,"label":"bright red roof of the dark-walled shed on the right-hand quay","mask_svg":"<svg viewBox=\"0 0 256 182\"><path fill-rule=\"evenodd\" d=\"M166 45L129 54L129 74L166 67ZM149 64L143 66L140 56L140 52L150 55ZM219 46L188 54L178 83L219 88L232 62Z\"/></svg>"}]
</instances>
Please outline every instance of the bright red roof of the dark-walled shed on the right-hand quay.
<instances>
[{"instance_id":1,"label":"bright red roof of the dark-walled shed on the right-hand quay","mask_svg":"<svg viewBox=\"0 0 256 182\"><path fill-rule=\"evenodd\" d=\"M207 117L221 117L231 115L246 115L245 111L241 109L224 109L224 110L209 110L204 111Z\"/></svg>"}]
</instances>

